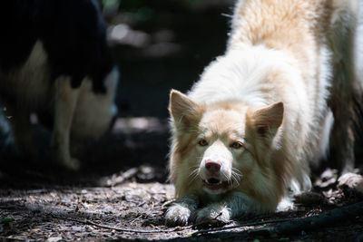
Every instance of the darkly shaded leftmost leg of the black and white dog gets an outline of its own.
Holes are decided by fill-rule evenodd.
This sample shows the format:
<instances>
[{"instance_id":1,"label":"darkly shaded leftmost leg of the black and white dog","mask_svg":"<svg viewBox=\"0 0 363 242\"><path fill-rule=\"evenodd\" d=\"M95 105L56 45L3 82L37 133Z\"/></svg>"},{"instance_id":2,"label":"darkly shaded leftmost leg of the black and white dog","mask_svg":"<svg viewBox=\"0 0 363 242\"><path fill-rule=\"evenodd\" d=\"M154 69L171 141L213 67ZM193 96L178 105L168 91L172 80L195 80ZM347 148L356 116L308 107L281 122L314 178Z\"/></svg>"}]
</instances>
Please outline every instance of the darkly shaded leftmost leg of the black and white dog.
<instances>
[{"instance_id":1,"label":"darkly shaded leftmost leg of the black and white dog","mask_svg":"<svg viewBox=\"0 0 363 242\"><path fill-rule=\"evenodd\" d=\"M10 123L17 148L26 159L36 162L39 159L39 154L35 145L29 111L16 108L10 109L9 114L11 115Z\"/></svg>"}]
</instances>

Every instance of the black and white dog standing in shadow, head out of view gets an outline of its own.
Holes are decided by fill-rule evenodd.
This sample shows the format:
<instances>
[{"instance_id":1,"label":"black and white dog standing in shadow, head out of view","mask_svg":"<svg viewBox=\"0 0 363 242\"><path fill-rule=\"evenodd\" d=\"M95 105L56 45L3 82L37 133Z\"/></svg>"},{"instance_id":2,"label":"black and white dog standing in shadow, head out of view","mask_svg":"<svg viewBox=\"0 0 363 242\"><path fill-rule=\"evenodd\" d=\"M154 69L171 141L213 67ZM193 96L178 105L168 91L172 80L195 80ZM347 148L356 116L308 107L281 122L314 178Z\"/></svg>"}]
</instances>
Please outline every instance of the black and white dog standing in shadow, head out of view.
<instances>
[{"instance_id":1,"label":"black and white dog standing in shadow, head out of view","mask_svg":"<svg viewBox=\"0 0 363 242\"><path fill-rule=\"evenodd\" d=\"M118 74L95 0L11 0L0 3L0 101L15 141L36 157L32 112L53 117L52 154L67 169L88 138L108 130Z\"/></svg>"}]
</instances>

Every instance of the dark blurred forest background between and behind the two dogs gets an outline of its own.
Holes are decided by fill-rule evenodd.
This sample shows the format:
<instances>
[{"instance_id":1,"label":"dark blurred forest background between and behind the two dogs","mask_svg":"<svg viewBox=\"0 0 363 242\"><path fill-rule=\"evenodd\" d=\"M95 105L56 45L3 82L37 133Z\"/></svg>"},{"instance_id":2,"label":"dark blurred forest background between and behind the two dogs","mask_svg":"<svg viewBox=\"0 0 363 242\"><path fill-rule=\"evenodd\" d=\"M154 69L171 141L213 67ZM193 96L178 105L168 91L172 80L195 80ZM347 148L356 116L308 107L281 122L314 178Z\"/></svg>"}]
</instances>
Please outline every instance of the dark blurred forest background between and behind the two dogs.
<instances>
[{"instance_id":1,"label":"dark blurred forest background between and behind the two dogs","mask_svg":"<svg viewBox=\"0 0 363 242\"><path fill-rule=\"evenodd\" d=\"M224 53L232 0L99 0L108 40L121 78L113 131L87 144L82 168L72 176L50 161L50 131L34 125L44 157L33 164L15 149L6 119L0 117L0 179L95 182L123 179L165 181L169 151L169 92L186 92L203 68ZM124 175L126 174L126 176ZM66 178L66 179L64 179ZM6 185L5 185L6 186Z\"/></svg>"}]
</instances>

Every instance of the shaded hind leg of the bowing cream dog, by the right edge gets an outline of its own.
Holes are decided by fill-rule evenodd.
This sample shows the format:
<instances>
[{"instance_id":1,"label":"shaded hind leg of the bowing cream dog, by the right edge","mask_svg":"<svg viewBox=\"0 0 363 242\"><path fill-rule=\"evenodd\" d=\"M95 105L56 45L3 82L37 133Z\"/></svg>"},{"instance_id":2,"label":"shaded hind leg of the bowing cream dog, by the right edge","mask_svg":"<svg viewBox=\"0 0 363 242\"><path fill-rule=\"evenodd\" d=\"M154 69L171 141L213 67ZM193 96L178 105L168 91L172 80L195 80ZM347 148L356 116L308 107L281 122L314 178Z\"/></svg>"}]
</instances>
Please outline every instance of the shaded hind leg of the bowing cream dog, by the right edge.
<instances>
[{"instance_id":1,"label":"shaded hind leg of the bowing cream dog, by the right edge","mask_svg":"<svg viewBox=\"0 0 363 242\"><path fill-rule=\"evenodd\" d=\"M329 30L329 46L332 50L333 79L329 106L334 124L330 135L330 160L341 173L354 169L354 121L356 101L361 94L355 80L355 34L357 30L358 1L337 1Z\"/></svg>"}]
</instances>

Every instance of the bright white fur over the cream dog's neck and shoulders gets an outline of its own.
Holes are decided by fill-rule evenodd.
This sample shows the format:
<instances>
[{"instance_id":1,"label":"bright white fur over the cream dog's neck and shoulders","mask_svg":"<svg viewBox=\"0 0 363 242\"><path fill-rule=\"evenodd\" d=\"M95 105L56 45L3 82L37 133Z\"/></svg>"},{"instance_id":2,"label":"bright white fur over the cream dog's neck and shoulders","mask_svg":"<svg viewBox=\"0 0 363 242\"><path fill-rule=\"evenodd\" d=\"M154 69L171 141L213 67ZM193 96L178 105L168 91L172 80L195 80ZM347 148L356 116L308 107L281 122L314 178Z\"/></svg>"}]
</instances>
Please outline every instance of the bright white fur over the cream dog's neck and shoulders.
<instances>
[{"instance_id":1,"label":"bright white fur over the cream dog's neck and shoulders","mask_svg":"<svg viewBox=\"0 0 363 242\"><path fill-rule=\"evenodd\" d=\"M313 157L319 159L325 153L325 150L315 150L319 142L315 130L319 129L323 118L317 119L316 116L328 109L325 101L329 80L319 80L319 100L311 99L296 66L296 60L289 54L271 50L263 45L240 45L239 50L231 50L211 63L202 74L201 81L191 89L189 97L200 103L238 100L254 109L266 107L274 102L284 102L285 121L280 134L276 136L275 146L284 145L288 159L299 164L298 170L294 171L294 177L299 180L299 189L309 189L311 184L306 175L309 172L308 160ZM265 82L271 72L280 73L279 78L284 82ZM284 89L287 91L283 96L278 94ZM316 112L312 112L309 107L315 103L320 105L317 105ZM299 132L296 132L296 129L299 129ZM297 145L299 150L288 147L295 146L296 142L301 143Z\"/></svg>"}]
</instances>

